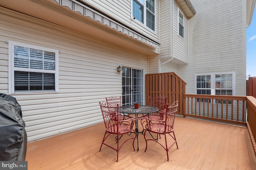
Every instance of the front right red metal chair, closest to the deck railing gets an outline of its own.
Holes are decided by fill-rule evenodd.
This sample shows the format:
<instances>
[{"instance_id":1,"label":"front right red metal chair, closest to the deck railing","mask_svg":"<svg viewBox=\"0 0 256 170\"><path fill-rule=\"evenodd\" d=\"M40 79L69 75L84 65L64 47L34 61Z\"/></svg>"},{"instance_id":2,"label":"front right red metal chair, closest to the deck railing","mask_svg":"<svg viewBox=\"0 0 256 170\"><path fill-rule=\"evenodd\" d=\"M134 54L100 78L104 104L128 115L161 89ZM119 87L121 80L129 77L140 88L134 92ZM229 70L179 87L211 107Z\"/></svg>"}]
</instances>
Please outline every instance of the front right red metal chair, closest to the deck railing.
<instances>
[{"instance_id":1,"label":"front right red metal chair, closest to the deck railing","mask_svg":"<svg viewBox=\"0 0 256 170\"><path fill-rule=\"evenodd\" d=\"M178 101L174 102L170 107L169 105L166 105L166 109L164 109L162 111L162 114L164 115L164 120L162 121L156 121L154 119L149 119L149 118L144 118L146 120L146 130L144 131L144 138L146 141L146 149L145 152L147 150L148 147L148 140L153 140L155 142L158 142L165 150L167 153L167 160L169 161L169 155L168 155L168 151L169 149L176 143L177 149L178 149L178 144L177 144L177 140L174 134L174 119L175 119L175 115L176 115L176 111L178 108ZM161 111L160 111L161 112ZM157 138L156 140L153 138L148 138L146 139L146 132L151 133L155 133L157 134ZM158 141L158 135L163 134L164 138L165 138L165 145L161 144ZM174 142L172 142L169 146L167 144L167 140L169 140L169 138L166 137L166 134L169 134L172 139L174 139ZM172 135L173 134L173 135ZM151 135L152 136L152 135Z\"/></svg>"}]
</instances>

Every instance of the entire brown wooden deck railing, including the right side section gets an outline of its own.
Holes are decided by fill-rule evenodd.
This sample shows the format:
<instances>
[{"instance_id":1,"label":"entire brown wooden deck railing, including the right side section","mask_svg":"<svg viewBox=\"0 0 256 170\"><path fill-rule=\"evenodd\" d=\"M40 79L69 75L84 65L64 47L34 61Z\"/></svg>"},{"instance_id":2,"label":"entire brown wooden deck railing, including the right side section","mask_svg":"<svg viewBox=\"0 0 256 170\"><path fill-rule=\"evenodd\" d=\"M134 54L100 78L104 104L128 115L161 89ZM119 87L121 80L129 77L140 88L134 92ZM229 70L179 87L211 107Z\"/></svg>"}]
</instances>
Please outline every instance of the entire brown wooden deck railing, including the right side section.
<instances>
[{"instance_id":1,"label":"entire brown wooden deck railing, including the right side section","mask_svg":"<svg viewBox=\"0 0 256 170\"><path fill-rule=\"evenodd\" d=\"M247 126L256 155L256 98L252 96L185 94L184 117ZM246 112L247 111L247 112Z\"/></svg>"}]
</instances>

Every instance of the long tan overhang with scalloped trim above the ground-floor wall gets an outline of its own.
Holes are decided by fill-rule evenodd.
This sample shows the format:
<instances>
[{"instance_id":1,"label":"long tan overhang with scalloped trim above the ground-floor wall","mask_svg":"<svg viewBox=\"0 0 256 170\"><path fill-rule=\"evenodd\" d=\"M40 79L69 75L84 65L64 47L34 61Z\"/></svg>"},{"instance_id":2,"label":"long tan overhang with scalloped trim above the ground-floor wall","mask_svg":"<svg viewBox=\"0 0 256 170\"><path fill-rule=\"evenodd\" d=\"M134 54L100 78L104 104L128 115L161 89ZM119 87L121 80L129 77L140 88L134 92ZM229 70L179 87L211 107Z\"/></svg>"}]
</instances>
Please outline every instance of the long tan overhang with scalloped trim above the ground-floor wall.
<instances>
[{"instance_id":1,"label":"long tan overhang with scalloped trim above the ground-floor wall","mask_svg":"<svg viewBox=\"0 0 256 170\"><path fill-rule=\"evenodd\" d=\"M134 52L159 53L159 43L76 0L4 0L0 6Z\"/></svg>"}]
</instances>

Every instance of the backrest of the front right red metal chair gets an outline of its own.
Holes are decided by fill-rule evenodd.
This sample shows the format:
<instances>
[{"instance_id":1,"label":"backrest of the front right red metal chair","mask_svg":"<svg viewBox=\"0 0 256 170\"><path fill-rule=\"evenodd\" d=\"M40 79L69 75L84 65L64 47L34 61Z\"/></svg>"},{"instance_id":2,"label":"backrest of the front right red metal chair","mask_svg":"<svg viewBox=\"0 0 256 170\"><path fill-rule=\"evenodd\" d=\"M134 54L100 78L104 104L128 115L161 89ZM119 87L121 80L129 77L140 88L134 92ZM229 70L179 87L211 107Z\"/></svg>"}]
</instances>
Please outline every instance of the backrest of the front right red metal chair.
<instances>
[{"instance_id":1,"label":"backrest of the front right red metal chair","mask_svg":"<svg viewBox=\"0 0 256 170\"><path fill-rule=\"evenodd\" d=\"M178 101L175 101L174 103L172 103L171 106L169 106L169 104L166 105L165 132L170 132L173 130L177 108L178 108Z\"/></svg>"}]
</instances>

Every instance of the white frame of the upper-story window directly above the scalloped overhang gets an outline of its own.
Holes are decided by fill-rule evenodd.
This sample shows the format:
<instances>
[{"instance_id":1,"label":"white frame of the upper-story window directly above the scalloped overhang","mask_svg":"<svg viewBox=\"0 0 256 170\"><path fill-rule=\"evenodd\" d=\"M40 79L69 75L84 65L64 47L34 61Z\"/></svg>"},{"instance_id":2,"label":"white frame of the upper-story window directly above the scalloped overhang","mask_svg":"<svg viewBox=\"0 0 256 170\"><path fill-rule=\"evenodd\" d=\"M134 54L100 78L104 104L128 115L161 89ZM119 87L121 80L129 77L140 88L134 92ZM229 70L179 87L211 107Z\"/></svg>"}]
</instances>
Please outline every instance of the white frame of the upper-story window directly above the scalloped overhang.
<instances>
[{"instance_id":1,"label":"white frame of the upper-story window directly above the scalloped overhang","mask_svg":"<svg viewBox=\"0 0 256 170\"><path fill-rule=\"evenodd\" d=\"M151 32L156 33L156 1L154 0L154 30L152 30L151 28L149 28L147 26L147 22L146 22L146 16L147 16L147 8L146 8L146 1L147 0L135 0L136 2L140 3L142 6L144 6L143 8L143 21L144 22L140 22L139 20L136 19L136 17L133 16L133 1L131 0L131 20L134 20L135 22L139 23L140 25L143 25L145 28L147 28L148 30L150 30ZM142 4L140 1L143 1L144 4Z\"/></svg>"}]
</instances>

